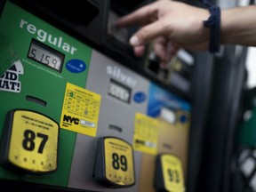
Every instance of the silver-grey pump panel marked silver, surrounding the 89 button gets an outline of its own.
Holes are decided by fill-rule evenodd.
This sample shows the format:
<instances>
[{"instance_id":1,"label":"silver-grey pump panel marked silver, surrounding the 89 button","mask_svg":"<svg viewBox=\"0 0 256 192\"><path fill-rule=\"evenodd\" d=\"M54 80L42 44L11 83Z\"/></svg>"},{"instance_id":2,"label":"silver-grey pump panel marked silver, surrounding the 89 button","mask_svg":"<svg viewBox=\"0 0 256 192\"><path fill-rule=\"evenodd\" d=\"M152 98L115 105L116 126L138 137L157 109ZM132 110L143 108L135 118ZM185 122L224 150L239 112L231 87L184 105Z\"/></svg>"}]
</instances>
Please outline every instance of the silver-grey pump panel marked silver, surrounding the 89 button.
<instances>
[{"instance_id":1,"label":"silver-grey pump panel marked silver, surrounding the 89 button","mask_svg":"<svg viewBox=\"0 0 256 192\"><path fill-rule=\"evenodd\" d=\"M130 103L125 103L108 94L110 79L114 79L116 82L131 88ZM108 59L100 52L92 52L86 89L101 95L99 127L96 138L77 134L68 187L95 191L113 191L113 188L103 187L92 178L97 139L105 136L114 136L132 144L134 116L137 112L147 113L148 95L146 100L141 103L134 102L132 96L136 92L148 94L149 84L150 82L144 77L119 65L116 61ZM109 125L121 128L122 132L109 129ZM134 151L136 184L131 188L120 188L115 189L115 191L135 192L139 190L140 162L141 153Z\"/></svg>"}]
</instances>

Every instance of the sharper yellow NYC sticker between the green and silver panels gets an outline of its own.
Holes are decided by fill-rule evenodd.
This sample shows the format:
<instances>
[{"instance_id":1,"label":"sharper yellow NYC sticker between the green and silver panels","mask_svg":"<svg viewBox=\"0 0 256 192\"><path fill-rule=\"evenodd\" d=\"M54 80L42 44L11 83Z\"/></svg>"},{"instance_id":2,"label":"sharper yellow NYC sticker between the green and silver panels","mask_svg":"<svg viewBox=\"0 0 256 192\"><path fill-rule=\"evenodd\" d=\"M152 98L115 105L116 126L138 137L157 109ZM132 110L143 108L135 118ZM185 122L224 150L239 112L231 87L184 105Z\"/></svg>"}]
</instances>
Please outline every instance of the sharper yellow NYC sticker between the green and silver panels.
<instances>
[{"instance_id":1,"label":"sharper yellow NYC sticker between the green and silver panels","mask_svg":"<svg viewBox=\"0 0 256 192\"><path fill-rule=\"evenodd\" d=\"M100 94L67 83L60 128L96 137L99 115Z\"/></svg>"}]
</instances>

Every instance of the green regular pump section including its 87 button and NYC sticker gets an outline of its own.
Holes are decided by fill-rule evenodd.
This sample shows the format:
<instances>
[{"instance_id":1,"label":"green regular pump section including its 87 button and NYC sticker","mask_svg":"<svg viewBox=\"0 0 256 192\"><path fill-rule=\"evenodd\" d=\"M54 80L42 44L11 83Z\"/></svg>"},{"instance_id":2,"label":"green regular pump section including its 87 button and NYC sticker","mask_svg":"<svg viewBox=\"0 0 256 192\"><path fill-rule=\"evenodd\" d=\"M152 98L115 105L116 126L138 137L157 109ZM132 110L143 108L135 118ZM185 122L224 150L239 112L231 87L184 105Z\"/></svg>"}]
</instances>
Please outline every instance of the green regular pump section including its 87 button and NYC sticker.
<instances>
[{"instance_id":1,"label":"green regular pump section including its 87 button and NYC sticker","mask_svg":"<svg viewBox=\"0 0 256 192\"><path fill-rule=\"evenodd\" d=\"M98 128L100 95L84 89L92 48L10 1L0 26L0 177L20 180L10 167L36 174L53 171L45 165L53 158L54 171L61 172L21 180L66 186L76 143L76 132L68 130L95 137ZM88 108L80 107L83 100Z\"/></svg>"}]
</instances>

